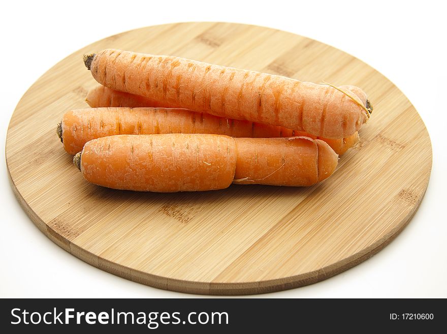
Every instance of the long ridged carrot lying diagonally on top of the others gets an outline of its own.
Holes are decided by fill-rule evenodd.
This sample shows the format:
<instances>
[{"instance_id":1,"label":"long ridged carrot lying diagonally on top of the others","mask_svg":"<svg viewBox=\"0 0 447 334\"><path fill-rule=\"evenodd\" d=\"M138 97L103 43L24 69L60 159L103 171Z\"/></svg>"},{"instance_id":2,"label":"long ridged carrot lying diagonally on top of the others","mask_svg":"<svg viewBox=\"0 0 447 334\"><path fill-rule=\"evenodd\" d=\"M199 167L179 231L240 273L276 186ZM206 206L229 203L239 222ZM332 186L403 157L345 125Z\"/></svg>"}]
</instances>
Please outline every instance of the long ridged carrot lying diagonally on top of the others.
<instances>
[{"instance_id":1,"label":"long ridged carrot lying diagonally on top of the others","mask_svg":"<svg viewBox=\"0 0 447 334\"><path fill-rule=\"evenodd\" d=\"M343 138L360 129L368 101L349 90L238 70L175 56L106 49L84 55L94 79L170 107L250 120L315 136ZM360 90L360 88L359 88Z\"/></svg>"}]
</instances>

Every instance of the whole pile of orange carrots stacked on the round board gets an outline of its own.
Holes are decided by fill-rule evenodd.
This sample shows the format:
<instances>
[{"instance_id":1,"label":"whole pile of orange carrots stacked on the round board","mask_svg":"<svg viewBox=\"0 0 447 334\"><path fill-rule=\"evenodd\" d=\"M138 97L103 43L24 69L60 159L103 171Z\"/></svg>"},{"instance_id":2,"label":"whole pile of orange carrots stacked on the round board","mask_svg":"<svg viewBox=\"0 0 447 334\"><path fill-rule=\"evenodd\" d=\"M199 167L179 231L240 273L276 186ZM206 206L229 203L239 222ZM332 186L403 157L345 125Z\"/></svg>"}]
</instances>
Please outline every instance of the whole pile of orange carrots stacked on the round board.
<instances>
[{"instance_id":1,"label":"whole pile of orange carrots stacked on the round board","mask_svg":"<svg viewBox=\"0 0 447 334\"><path fill-rule=\"evenodd\" d=\"M301 82L175 56L84 55L101 85L57 126L90 183L151 192L311 186L359 140L356 86Z\"/></svg>"}]
</instances>

